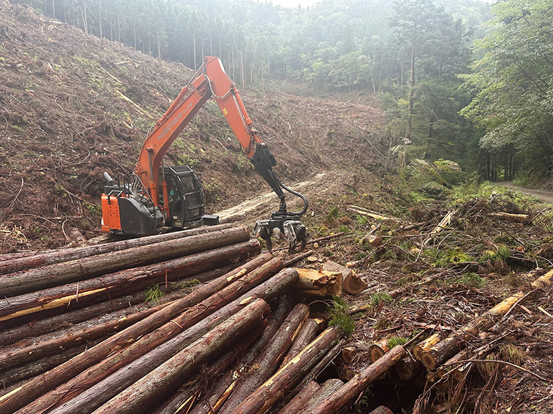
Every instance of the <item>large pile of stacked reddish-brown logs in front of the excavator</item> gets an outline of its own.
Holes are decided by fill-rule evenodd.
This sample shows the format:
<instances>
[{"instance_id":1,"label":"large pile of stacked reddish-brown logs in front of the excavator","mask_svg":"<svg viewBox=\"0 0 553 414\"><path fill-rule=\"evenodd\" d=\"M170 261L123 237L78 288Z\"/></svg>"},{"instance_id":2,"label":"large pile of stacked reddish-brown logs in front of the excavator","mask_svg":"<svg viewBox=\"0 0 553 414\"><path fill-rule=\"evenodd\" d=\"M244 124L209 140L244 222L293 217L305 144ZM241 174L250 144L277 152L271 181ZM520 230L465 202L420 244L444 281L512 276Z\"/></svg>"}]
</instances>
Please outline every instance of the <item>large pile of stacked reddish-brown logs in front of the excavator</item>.
<instances>
[{"instance_id":1,"label":"large pile of stacked reddish-brown logs in front of the excavator","mask_svg":"<svg viewBox=\"0 0 553 414\"><path fill-rule=\"evenodd\" d=\"M260 250L216 226L3 257L0 413L315 412L353 386L299 400L344 334L292 303L297 270Z\"/></svg>"}]
</instances>

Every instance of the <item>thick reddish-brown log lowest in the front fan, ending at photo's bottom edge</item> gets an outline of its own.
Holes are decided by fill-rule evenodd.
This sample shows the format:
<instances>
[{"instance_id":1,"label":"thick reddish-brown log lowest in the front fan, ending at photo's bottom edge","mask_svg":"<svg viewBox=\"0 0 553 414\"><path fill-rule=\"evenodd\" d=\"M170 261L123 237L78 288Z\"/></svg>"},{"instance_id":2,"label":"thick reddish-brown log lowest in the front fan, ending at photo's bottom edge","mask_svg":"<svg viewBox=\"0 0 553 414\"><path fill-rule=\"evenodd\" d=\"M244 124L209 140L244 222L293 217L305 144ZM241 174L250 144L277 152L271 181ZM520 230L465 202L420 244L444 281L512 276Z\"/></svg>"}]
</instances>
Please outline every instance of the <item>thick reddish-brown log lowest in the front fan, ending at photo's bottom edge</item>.
<instances>
[{"instance_id":1,"label":"thick reddish-brown log lowest in the front fan, ending at photo's bottom edge","mask_svg":"<svg viewBox=\"0 0 553 414\"><path fill-rule=\"evenodd\" d=\"M156 403L156 400L175 391L175 384L182 383L187 375L193 373L201 364L245 335L255 324L259 324L263 315L268 314L269 311L270 308L263 299L256 299L194 344L183 349L122 393L113 397L94 413L137 414L147 412Z\"/></svg>"}]
</instances>

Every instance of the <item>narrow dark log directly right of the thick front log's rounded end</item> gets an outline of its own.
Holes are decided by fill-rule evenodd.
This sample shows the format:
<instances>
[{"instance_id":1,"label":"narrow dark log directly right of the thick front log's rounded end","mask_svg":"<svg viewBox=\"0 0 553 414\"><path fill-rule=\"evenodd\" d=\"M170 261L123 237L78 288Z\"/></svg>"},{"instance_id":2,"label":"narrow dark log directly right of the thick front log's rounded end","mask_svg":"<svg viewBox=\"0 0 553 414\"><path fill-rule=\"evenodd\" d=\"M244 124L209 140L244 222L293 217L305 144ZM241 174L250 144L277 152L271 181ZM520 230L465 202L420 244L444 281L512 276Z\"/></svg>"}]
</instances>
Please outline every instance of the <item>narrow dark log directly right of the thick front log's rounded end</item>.
<instances>
[{"instance_id":1,"label":"narrow dark log directly right of the thick front log's rounded end","mask_svg":"<svg viewBox=\"0 0 553 414\"><path fill-rule=\"evenodd\" d=\"M272 338L279 330L281 324L283 324L285 318L292 310L292 304L288 298L280 297L279 299L279 306L269 318L268 324L263 330L261 337L259 337L259 340L249 351L247 351L247 353L245 353L245 355L243 355L243 357L241 357L238 366L236 366L229 375L225 375L223 380L218 382L216 389L210 393L210 395L207 395L203 400L198 402L189 414L215 414L221 409L221 406L225 404L229 397L229 393L232 393L236 385L235 378L250 369L254 359L256 359L261 351L266 348L268 343L272 341Z\"/></svg>"}]
</instances>

